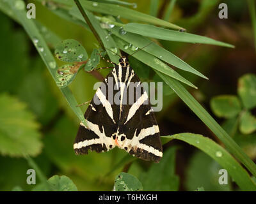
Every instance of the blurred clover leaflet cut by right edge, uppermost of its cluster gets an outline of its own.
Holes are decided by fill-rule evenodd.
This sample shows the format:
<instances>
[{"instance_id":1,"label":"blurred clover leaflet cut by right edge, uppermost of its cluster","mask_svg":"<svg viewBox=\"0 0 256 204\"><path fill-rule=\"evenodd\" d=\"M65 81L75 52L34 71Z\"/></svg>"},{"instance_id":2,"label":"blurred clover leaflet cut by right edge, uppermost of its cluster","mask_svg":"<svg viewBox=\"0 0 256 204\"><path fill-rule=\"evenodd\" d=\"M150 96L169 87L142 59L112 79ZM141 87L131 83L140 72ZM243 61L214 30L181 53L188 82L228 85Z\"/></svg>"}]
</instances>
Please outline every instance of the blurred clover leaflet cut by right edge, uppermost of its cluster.
<instances>
[{"instance_id":1,"label":"blurred clover leaflet cut by right edge, uppermost of its cluster","mask_svg":"<svg viewBox=\"0 0 256 204\"><path fill-rule=\"evenodd\" d=\"M239 78L237 92L245 108L256 106L256 75L246 74Z\"/></svg>"}]
</instances>

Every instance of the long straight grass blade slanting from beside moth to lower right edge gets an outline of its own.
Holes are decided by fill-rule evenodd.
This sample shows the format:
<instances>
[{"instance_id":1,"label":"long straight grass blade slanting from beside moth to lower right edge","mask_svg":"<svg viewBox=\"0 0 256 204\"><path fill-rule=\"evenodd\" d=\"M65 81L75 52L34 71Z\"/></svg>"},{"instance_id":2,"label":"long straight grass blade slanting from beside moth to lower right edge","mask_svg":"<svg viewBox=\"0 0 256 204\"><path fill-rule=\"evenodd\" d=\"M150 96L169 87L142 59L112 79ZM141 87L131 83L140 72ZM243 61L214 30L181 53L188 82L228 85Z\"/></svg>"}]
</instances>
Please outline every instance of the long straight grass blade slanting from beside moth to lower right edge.
<instances>
[{"instance_id":1,"label":"long straight grass blade slanting from beside moth to lower right edge","mask_svg":"<svg viewBox=\"0 0 256 204\"><path fill-rule=\"evenodd\" d=\"M196 101L193 96L179 83L177 80L173 80L173 78L168 77L167 75L163 75L159 71L156 73L161 77L167 85L169 85L172 90L179 96L186 105L191 108L191 110L204 122L204 124L211 129L211 131L218 136L221 142L227 147L231 154L234 157L239 159L241 163L246 166L246 168L256 176L256 165L253 161L248 157L241 147L237 145L236 142L225 132L223 128L216 122L211 115Z\"/></svg>"}]
</instances>

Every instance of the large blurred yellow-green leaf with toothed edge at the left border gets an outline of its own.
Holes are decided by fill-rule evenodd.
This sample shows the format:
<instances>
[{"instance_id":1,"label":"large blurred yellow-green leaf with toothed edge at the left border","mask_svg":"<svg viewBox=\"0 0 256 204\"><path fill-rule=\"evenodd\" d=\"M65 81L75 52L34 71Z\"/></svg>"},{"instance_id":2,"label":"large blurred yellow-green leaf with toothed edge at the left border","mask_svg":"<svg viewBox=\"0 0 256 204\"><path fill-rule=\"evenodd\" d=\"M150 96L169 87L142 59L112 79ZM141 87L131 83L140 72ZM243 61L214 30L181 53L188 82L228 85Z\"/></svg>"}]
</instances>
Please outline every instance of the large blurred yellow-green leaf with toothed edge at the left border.
<instances>
[{"instance_id":1,"label":"large blurred yellow-green leaf with toothed edge at the left border","mask_svg":"<svg viewBox=\"0 0 256 204\"><path fill-rule=\"evenodd\" d=\"M0 153L36 156L42 150L39 124L19 99L0 94Z\"/></svg>"}]
</instances>

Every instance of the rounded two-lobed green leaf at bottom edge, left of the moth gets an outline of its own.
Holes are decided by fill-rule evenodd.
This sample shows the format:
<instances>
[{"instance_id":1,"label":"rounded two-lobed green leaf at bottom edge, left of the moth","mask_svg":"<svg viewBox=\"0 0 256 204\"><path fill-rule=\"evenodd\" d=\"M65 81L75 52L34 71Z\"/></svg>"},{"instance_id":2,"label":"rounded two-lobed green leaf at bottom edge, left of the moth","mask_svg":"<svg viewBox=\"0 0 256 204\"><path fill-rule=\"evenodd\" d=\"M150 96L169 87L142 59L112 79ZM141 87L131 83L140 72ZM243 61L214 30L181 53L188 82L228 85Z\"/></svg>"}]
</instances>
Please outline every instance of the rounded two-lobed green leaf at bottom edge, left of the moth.
<instances>
[{"instance_id":1,"label":"rounded two-lobed green leaf at bottom edge, left of the moth","mask_svg":"<svg viewBox=\"0 0 256 204\"><path fill-rule=\"evenodd\" d=\"M54 175L47 180L51 185L52 191L77 191L76 185L67 176ZM45 184L38 184L32 191L49 191Z\"/></svg>"}]
</instances>

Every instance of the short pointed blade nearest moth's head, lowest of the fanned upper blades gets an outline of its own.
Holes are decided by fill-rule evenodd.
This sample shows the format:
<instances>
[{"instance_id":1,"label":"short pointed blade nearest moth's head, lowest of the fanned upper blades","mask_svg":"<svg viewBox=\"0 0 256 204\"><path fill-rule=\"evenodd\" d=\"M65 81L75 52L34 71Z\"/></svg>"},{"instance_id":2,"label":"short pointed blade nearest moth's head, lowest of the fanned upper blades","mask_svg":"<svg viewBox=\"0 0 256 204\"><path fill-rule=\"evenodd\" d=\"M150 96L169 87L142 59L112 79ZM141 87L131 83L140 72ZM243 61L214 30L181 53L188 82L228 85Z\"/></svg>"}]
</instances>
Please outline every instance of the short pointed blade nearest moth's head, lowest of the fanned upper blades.
<instances>
[{"instance_id":1,"label":"short pointed blade nearest moth's head, lowest of the fanned upper blades","mask_svg":"<svg viewBox=\"0 0 256 204\"><path fill-rule=\"evenodd\" d=\"M134 53L134 51L132 51L131 49L124 48L125 45L127 45L127 42L125 42L124 40L122 40L116 36L113 36L113 39L116 41L116 45L118 45L118 47L121 50L124 50L124 52L126 52L127 54L130 54L130 55ZM164 75L175 78L176 80L179 80L180 82L183 82L184 84L187 84L187 85L197 89L197 87L195 85L193 85L191 82L186 80L186 78L180 76L179 73L177 73L172 68L170 68L169 66L164 64L164 62L159 60L157 57L154 57L143 50L140 50L140 52L136 52L136 54L134 54L132 56L135 57L136 59L140 60L141 62L147 64L154 70L157 70L157 71L163 73Z\"/></svg>"}]
</instances>

